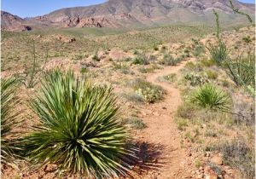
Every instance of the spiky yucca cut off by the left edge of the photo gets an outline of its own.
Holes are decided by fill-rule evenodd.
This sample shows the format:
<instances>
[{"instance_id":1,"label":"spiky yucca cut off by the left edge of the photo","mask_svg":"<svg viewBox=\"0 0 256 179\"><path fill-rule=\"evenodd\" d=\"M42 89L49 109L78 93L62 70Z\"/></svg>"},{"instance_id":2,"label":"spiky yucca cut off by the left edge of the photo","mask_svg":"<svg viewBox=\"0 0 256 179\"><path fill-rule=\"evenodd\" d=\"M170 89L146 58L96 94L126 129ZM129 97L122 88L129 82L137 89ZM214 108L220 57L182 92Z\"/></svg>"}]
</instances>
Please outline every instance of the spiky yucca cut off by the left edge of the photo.
<instances>
[{"instance_id":1,"label":"spiky yucca cut off by the left edge of the photo","mask_svg":"<svg viewBox=\"0 0 256 179\"><path fill-rule=\"evenodd\" d=\"M20 111L17 105L20 101L15 96L20 78L10 77L1 81L1 163L15 166L17 133L15 129L20 126Z\"/></svg>"}]
</instances>

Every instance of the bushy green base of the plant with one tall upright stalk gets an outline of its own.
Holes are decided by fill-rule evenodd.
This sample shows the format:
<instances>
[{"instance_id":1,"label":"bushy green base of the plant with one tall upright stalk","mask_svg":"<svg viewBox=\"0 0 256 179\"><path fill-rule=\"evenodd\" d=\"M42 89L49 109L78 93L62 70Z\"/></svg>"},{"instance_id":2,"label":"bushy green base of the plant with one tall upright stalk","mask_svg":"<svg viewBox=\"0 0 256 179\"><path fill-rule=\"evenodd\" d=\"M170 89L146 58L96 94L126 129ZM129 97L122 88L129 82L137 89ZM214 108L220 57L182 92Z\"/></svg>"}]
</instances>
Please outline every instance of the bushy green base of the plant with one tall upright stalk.
<instances>
[{"instance_id":1,"label":"bushy green base of the plant with one tall upright stalk","mask_svg":"<svg viewBox=\"0 0 256 179\"><path fill-rule=\"evenodd\" d=\"M228 59L229 52L223 42L219 42L217 45L210 44L207 49L210 53L211 60L215 61L218 65L221 65L224 61Z\"/></svg>"}]
</instances>

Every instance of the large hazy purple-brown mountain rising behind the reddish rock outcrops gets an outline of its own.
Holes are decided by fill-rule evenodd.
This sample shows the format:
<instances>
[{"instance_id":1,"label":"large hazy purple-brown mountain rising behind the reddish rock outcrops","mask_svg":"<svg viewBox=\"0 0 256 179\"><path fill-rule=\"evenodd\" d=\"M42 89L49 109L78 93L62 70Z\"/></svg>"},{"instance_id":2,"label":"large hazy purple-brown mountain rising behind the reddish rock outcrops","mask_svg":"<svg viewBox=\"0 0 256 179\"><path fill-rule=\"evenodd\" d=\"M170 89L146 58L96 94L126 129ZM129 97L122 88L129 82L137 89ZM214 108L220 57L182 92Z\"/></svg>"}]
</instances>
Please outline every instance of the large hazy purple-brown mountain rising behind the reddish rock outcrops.
<instances>
[{"instance_id":1,"label":"large hazy purple-brown mountain rising behind the reddish rock outcrops","mask_svg":"<svg viewBox=\"0 0 256 179\"><path fill-rule=\"evenodd\" d=\"M254 14L253 4L238 1L234 4L236 8ZM96 18L111 21L116 26L132 26L134 23L141 26L188 22L204 24L212 22L213 8L224 14L226 22L241 19L230 9L229 0L109 0L89 7L56 10L44 18L64 24L72 18ZM102 26L109 24L102 23Z\"/></svg>"}]
</instances>

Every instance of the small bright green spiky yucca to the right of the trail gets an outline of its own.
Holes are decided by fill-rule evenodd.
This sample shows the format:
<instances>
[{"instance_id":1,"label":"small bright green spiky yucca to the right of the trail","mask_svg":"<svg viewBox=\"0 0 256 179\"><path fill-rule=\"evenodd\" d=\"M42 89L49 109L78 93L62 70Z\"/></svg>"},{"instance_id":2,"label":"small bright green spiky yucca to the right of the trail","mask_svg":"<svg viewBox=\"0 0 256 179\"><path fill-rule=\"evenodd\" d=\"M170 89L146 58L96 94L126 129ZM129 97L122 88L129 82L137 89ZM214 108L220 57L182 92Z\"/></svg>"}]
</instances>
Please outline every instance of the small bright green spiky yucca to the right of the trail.
<instances>
[{"instance_id":1,"label":"small bright green spiky yucca to the right of the trail","mask_svg":"<svg viewBox=\"0 0 256 179\"><path fill-rule=\"evenodd\" d=\"M200 107L226 111L230 108L230 96L214 84L204 84L195 91L191 101Z\"/></svg>"}]
</instances>

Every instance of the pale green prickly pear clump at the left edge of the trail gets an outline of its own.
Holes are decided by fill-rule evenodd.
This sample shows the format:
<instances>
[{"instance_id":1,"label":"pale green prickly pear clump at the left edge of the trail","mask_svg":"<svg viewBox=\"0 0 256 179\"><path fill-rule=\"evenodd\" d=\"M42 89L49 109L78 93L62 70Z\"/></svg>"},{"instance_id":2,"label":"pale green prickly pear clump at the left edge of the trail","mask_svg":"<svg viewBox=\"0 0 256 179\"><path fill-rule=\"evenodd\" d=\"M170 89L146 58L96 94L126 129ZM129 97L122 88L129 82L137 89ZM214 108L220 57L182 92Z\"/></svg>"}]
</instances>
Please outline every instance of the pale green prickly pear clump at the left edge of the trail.
<instances>
[{"instance_id":1,"label":"pale green prickly pear clump at the left edge of the trail","mask_svg":"<svg viewBox=\"0 0 256 179\"><path fill-rule=\"evenodd\" d=\"M151 84L141 78L135 79L131 83L131 87L135 90L137 95L142 96L143 100L148 103L160 101L165 94L165 90L163 90L160 86Z\"/></svg>"}]
</instances>

